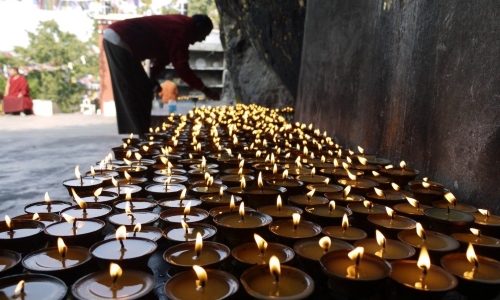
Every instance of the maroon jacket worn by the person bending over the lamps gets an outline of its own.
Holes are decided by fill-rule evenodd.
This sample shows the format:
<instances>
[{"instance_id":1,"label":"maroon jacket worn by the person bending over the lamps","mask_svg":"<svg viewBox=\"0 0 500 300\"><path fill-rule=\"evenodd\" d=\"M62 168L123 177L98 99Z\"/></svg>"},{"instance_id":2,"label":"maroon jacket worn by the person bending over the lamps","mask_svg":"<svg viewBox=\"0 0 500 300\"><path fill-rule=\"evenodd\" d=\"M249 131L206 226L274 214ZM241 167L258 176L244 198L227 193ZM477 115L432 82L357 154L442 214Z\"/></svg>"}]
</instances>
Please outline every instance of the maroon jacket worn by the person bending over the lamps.
<instances>
[{"instance_id":1,"label":"maroon jacket worn by the person bending over the lamps","mask_svg":"<svg viewBox=\"0 0 500 300\"><path fill-rule=\"evenodd\" d=\"M151 77L172 63L177 74L192 88L201 90L203 82L189 67L189 44L194 41L194 24L183 15L161 15L127 19L109 26L140 60L154 63Z\"/></svg>"}]
</instances>

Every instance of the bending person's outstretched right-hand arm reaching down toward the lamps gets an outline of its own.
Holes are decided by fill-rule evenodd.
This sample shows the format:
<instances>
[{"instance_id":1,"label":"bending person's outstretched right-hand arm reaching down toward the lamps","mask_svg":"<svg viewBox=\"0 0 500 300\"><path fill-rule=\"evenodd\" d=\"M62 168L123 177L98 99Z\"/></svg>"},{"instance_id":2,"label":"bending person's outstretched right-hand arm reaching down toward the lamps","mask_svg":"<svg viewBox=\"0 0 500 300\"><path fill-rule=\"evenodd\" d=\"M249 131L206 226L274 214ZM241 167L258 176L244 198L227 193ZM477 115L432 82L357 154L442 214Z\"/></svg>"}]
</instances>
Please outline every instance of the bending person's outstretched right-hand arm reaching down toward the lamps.
<instances>
[{"instance_id":1,"label":"bending person's outstretched right-hand arm reaching down toward the lamps","mask_svg":"<svg viewBox=\"0 0 500 300\"><path fill-rule=\"evenodd\" d=\"M203 92L208 98L219 100L220 95L205 86L203 81L201 81L193 70L191 70L191 67L189 67L189 52L187 47L185 49L178 48L172 54L172 65L174 66L177 75L179 75L184 82L186 82L193 89Z\"/></svg>"}]
</instances>

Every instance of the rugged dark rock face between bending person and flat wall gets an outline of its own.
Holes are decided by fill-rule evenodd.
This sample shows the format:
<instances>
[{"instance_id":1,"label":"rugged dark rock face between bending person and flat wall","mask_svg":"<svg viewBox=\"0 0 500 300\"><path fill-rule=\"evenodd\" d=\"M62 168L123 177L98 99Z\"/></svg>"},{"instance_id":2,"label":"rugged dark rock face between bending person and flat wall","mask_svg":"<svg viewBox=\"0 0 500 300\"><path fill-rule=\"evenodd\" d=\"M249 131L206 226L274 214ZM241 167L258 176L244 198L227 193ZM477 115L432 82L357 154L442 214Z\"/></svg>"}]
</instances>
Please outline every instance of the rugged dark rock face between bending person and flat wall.
<instances>
[{"instance_id":1,"label":"rugged dark rock face between bending person and flat wall","mask_svg":"<svg viewBox=\"0 0 500 300\"><path fill-rule=\"evenodd\" d=\"M234 92L244 103L293 105L300 68L303 1L216 0Z\"/></svg>"}]
</instances>

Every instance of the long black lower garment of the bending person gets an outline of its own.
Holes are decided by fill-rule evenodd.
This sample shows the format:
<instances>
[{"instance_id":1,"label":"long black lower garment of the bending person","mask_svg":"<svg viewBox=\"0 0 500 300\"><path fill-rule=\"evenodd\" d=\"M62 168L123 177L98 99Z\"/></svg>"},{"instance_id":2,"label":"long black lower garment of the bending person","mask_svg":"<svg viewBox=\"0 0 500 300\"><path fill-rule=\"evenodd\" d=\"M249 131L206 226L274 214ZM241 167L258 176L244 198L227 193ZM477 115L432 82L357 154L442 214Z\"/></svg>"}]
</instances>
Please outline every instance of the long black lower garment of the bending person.
<instances>
[{"instance_id":1,"label":"long black lower garment of the bending person","mask_svg":"<svg viewBox=\"0 0 500 300\"><path fill-rule=\"evenodd\" d=\"M118 133L146 133L151 122L153 83L141 62L128 50L107 40L103 43L111 73Z\"/></svg>"}]
</instances>

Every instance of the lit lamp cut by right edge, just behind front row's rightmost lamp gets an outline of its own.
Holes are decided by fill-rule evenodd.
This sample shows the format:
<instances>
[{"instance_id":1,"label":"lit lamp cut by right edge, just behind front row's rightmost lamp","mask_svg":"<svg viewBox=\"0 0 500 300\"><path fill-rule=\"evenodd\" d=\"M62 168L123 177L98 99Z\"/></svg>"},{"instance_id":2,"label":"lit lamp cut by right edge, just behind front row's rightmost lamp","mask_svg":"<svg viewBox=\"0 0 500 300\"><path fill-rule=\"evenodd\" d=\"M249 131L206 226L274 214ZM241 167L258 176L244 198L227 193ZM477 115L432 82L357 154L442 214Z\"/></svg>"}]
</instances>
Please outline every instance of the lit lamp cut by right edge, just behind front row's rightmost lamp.
<instances>
[{"instance_id":1,"label":"lit lamp cut by right edge, just behind front row's rightmost lamp","mask_svg":"<svg viewBox=\"0 0 500 300\"><path fill-rule=\"evenodd\" d=\"M470 228L469 233L457 232L451 234L462 246L473 244L479 254L500 259L500 239L487 236L477 228Z\"/></svg>"}]
</instances>

